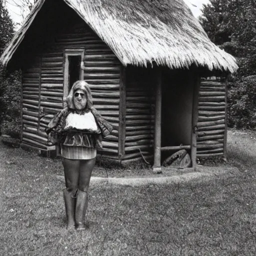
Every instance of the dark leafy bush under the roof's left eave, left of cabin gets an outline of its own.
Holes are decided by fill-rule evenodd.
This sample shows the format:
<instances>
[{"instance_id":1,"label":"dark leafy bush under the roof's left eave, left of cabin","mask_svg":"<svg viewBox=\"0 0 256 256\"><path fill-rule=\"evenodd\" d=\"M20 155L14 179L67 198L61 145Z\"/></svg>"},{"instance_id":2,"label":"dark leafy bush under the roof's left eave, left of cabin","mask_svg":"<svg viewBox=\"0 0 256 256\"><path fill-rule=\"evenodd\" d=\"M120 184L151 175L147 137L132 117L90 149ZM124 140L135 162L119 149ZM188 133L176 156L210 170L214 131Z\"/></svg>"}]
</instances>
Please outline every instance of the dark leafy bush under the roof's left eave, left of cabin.
<instances>
[{"instance_id":1,"label":"dark leafy bush under the roof's left eave, left of cabin","mask_svg":"<svg viewBox=\"0 0 256 256\"><path fill-rule=\"evenodd\" d=\"M20 72L7 73L0 68L0 130L12 137L20 134L20 93Z\"/></svg>"}]
</instances>

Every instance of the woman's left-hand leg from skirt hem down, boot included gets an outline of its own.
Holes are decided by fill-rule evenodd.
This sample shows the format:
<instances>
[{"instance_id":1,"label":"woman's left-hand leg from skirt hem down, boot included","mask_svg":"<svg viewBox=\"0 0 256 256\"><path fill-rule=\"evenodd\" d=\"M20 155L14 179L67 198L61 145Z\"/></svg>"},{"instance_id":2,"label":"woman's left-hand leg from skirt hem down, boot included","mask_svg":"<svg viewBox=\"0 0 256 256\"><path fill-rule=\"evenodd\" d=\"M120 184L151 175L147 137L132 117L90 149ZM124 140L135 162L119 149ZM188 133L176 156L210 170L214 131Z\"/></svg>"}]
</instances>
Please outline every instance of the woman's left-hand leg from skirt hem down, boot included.
<instances>
[{"instance_id":1,"label":"woman's left-hand leg from skirt hem down, boot included","mask_svg":"<svg viewBox=\"0 0 256 256\"><path fill-rule=\"evenodd\" d=\"M65 185L63 196L65 201L65 210L67 224L66 228L74 227L74 209L75 209L75 194L78 188L79 177L79 160L71 160L62 158L64 167Z\"/></svg>"}]
</instances>

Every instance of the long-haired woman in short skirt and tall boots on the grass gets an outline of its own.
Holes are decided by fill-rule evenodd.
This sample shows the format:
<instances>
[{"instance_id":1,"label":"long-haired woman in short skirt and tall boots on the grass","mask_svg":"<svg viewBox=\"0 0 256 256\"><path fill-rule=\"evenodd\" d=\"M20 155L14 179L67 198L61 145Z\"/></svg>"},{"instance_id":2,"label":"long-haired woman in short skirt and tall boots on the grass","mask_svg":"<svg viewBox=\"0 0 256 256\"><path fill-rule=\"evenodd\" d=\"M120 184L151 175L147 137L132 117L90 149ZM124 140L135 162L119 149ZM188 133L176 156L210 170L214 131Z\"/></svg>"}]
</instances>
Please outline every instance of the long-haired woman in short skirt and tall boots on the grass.
<instances>
[{"instance_id":1,"label":"long-haired woman in short skirt and tall boots on the grass","mask_svg":"<svg viewBox=\"0 0 256 256\"><path fill-rule=\"evenodd\" d=\"M93 107L88 83L76 81L66 98L67 106L58 112L45 131L51 142L61 146L65 186L63 196L67 228L85 229L88 189L95 164L96 147L112 126Z\"/></svg>"}]
</instances>

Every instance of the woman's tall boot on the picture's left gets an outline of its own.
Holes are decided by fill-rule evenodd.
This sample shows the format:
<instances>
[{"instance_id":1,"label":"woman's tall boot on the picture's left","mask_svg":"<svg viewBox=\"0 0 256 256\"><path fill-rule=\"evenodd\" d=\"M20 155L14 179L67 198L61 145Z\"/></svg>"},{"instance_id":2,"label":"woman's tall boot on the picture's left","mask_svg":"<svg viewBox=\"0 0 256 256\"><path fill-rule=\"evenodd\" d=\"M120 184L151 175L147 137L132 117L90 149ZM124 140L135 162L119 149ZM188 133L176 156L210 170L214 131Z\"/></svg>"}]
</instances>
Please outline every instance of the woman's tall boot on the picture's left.
<instances>
[{"instance_id":1,"label":"woman's tall boot on the picture's left","mask_svg":"<svg viewBox=\"0 0 256 256\"><path fill-rule=\"evenodd\" d=\"M65 201L66 209L66 228L74 228L74 209L75 209L75 197L66 188L63 189L63 197Z\"/></svg>"}]
</instances>

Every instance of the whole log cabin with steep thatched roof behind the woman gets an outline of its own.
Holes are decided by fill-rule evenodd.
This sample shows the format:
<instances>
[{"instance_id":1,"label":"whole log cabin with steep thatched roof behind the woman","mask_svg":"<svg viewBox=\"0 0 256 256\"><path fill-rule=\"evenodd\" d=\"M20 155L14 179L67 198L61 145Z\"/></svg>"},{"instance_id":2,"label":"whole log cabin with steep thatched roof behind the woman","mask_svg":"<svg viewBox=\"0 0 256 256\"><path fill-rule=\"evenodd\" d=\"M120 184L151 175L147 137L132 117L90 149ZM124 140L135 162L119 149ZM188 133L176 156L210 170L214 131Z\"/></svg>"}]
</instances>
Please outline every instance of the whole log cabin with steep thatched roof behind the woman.
<instances>
[{"instance_id":1,"label":"whole log cabin with steep thatched roof behind the woman","mask_svg":"<svg viewBox=\"0 0 256 256\"><path fill-rule=\"evenodd\" d=\"M98 154L127 163L186 149L224 155L226 84L237 69L183 0L37 0L0 57L22 70L21 145L56 150L44 128L86 80L114 127Z\"/></svg>"}]
</instances>

